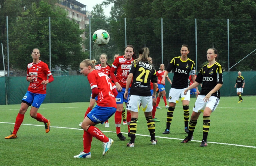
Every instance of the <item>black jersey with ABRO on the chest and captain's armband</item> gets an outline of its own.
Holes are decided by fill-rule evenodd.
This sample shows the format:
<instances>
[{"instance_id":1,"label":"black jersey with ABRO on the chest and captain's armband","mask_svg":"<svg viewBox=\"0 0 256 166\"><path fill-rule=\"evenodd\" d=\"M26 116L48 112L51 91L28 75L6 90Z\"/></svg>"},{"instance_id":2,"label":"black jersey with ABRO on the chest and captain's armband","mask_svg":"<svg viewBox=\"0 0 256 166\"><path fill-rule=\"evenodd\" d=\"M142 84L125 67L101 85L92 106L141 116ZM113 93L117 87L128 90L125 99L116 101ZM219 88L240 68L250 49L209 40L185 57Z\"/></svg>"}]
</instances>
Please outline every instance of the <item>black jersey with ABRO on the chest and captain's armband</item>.
<instances>
[{"instance_id":1,"label":"black jersey with ABRO on the chest and captain's armband","mask_svg":"<svg viewBox=\"0 0 256 166\"><path fill-rule=\"evenodd\" d=\"M189 58L186 61L182 61L180 56L173 58L166 70L168 72L173 70L172 88L176 89L187 88L189 86L189 72L191 75L196 74L194 61Z\"/></svg>"}]
</instances>

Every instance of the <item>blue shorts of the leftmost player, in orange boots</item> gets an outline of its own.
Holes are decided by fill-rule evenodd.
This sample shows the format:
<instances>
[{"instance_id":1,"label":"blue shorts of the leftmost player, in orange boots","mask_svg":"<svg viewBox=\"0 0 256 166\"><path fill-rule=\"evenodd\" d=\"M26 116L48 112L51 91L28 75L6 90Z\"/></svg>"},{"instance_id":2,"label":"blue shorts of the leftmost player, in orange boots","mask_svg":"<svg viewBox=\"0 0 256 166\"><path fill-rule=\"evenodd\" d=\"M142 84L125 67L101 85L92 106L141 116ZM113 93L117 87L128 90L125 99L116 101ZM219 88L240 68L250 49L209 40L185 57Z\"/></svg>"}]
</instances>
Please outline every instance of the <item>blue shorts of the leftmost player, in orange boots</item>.
<instances>
[{"instance_id":1,"label":"blue shorts of the leftmost player, in orange boots","mask_svg":"<svg viewBox=\"0 0 256 166\"><path fill-rule=\"evenodd\" d=\"M22 102L25 101L23 103L26 103L29 106L32 105L33 107L39 108L40 105L43 103L45 96L46 94L37 94L27 91L22 99Z\"/></svg>"}]
</instances>

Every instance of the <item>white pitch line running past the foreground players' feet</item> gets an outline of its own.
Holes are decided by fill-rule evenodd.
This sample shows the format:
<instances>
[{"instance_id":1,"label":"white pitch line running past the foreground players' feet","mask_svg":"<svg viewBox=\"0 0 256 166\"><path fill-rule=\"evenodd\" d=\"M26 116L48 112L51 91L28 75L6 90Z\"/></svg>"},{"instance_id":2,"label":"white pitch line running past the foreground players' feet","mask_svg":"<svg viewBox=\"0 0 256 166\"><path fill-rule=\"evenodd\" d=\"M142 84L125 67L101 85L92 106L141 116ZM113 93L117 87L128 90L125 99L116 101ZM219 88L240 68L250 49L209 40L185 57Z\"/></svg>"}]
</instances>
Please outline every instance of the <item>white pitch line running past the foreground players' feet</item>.
<instances>
[{"instance_id":1,"label":"white pitch line running past the foreground players' feet","mask_svg":"<svg viewBox=\"0 0 256 166\"><path fill-rule=\"evenodd\" d=\"M0 122L4 124L14 124L14 123L8 123L8 122ZM22 125L27 125L27 126L42 126L45 127L44 125L36 125L36 124L22 124ZM52 128L60 128L60 129L73 129L73 130L83 130L79 128L71 128L71 127L57 127L57 126L51 126ZM112 132L112 131L101 131L101 132ZM116 133L116 132L112 132ZM123 132L124 134L128 134ZM150 137L150 135L143 135L143 134L136 134L137 136L144 136L144 137ZM155 138L165 138L165 139L172 139L172 140L183 140L181 138L170 138L170 137L160 137L160 136L155 136ZM194 142L201 142L198 140L192 140ZM246 147L246 148L256 148L256 146L246 146L246 145L237 145L237 144L230 144L230 143L220 143L220 142L207 142L207 143L214 143L214 144L221 144L221 145L230 145L230 146L240 146L240 147Z\"/></svg>"}]
</instances>

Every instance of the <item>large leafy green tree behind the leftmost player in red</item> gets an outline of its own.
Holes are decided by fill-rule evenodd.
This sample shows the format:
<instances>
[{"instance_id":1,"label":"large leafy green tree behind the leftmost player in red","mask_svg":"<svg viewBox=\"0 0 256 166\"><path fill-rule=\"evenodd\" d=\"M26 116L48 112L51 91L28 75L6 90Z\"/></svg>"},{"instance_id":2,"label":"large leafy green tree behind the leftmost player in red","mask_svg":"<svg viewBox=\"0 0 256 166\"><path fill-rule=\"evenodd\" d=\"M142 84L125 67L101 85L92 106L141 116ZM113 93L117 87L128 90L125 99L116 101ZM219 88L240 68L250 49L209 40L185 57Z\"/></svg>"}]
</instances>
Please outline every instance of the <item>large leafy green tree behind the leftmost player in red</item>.
<instances>
[{"instance_id":1,"label":"large leafy green tree behind the leftmost player in red","mask_svg":"<svg viewBox=\"0 0 256 166\"><path fill-rule=\"evenodd\" d=\"M33 3L16 18L10 34L10 59L12 67L26 69L31 63L33 48L39 48L41 59L49 64L49 18L51 17L51 65L66 69L79 67L86 58L81 49L83 30L74 21L66 18L65 10L40 1Z\"/></svg>"}]
</instances>

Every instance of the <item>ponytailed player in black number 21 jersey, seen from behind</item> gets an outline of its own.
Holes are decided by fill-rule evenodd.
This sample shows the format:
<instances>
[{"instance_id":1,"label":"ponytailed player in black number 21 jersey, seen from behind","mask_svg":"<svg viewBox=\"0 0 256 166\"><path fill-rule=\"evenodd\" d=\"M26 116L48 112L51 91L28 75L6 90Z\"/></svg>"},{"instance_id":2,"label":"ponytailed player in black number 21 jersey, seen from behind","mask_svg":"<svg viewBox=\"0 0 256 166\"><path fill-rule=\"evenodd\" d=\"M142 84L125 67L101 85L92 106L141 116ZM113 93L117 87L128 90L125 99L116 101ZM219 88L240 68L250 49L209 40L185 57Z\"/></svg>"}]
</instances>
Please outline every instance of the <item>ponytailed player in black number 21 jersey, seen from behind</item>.
<instances>
[{"instance_id":1,"label":"ponytailed player in black number 21 jersey, seen from behind","mask_svg":"<svg viewBox=\"0 0 256 166\"><path fill-rule=\"evenodd\" d=\"M132 63L124 93L124 98L127 99L130 83L132 82L133 79L133 83L129 94L130 97L127 104L127 111L131 112L132 117L130 123L131 141L127 144L127 146L131 148L134 147L140 105L142 107L142 110L144 111L147 120L147 126L151 137L151 143L153 145L156 145L157 143L157 140L155 139L155 122L153 121L152 118L152 97L153 100L155 101L157 81L155 68L148 61L148 56L149 50L147 47L145 47L142 55L138 59L134 60L134 62ZM151 95L150 92L150 81L153 82L153 95Z\"/></svg>"}]
</instances>

